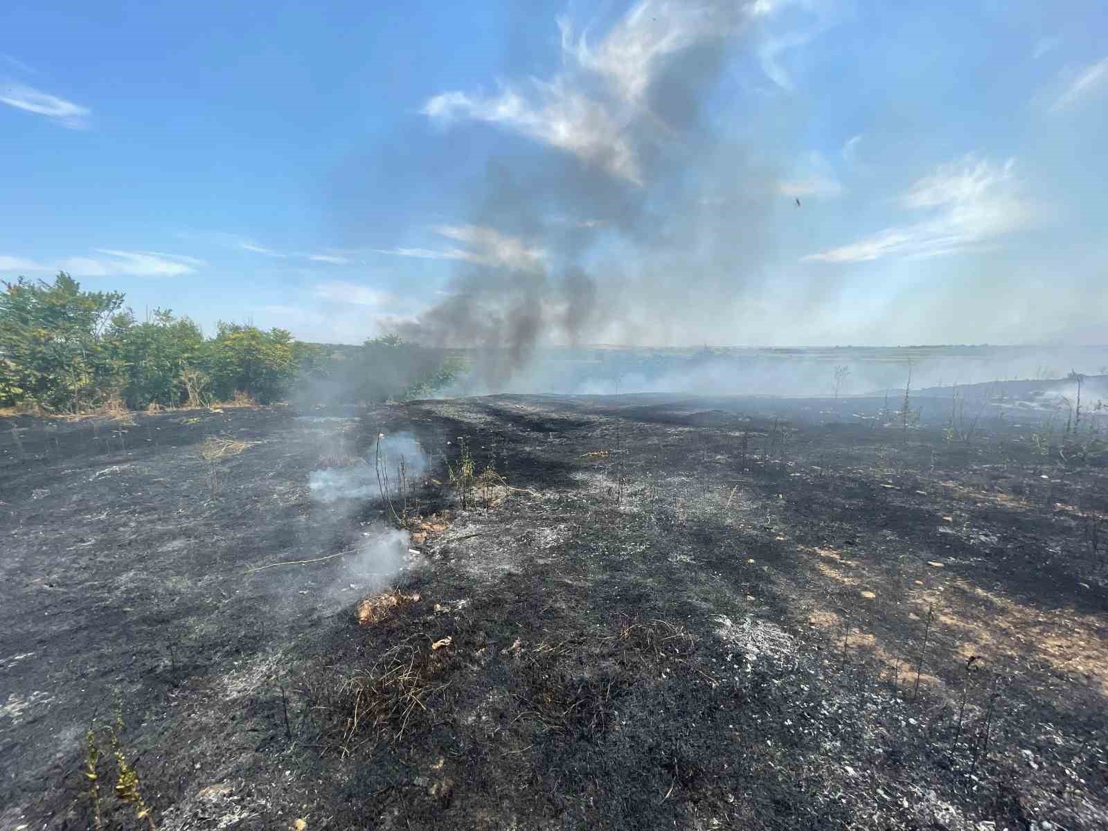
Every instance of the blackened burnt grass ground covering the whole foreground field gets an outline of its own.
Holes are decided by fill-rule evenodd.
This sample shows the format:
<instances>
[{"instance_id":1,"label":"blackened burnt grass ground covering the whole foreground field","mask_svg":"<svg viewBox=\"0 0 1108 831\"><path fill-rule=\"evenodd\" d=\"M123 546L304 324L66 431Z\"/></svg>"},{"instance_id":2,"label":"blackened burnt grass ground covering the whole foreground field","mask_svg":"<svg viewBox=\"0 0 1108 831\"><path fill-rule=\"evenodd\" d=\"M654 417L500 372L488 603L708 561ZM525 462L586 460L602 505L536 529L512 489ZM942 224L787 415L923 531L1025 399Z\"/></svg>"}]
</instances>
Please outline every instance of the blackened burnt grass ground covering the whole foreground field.
<instances>
[{"instance_id":1,"label":"blackened burnt grass ground covering the whole foreground field","mask_svg":"<svg viewBox=\"0 0 1108 831\"><path fill-rule=\"evenodd\" d=\"M1098 442L885 406L2 419L0 827L96 827L116 718L163 829L1108 827ZM447 527L361 626L390 514L308 478L399 430Z\"/></svg>"}]
</instances>

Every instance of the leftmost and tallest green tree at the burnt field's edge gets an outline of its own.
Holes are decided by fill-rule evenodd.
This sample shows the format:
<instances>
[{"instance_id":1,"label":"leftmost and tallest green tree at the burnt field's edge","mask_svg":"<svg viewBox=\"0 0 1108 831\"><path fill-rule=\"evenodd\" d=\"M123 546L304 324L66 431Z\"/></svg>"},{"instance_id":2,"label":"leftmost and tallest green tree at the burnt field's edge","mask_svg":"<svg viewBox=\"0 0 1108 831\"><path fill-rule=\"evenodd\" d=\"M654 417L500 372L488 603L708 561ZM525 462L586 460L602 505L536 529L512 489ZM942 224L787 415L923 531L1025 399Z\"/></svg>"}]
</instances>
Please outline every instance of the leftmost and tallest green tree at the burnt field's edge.
<instances>
[{"instance_id":1,"label":"leftmost and tallest green tree at the burnt field's edge","mask_svg":"<svg viewBox=\"0 0 1108 831\"><path fill-rule=\"evenodd\" d=\"M0 291L0 406L33 401L76 412L117 380L115 356L103 337L120 307L120 291L82 291L65 271L53 283L3 284Z\"/></svg>"}]
</instances>

